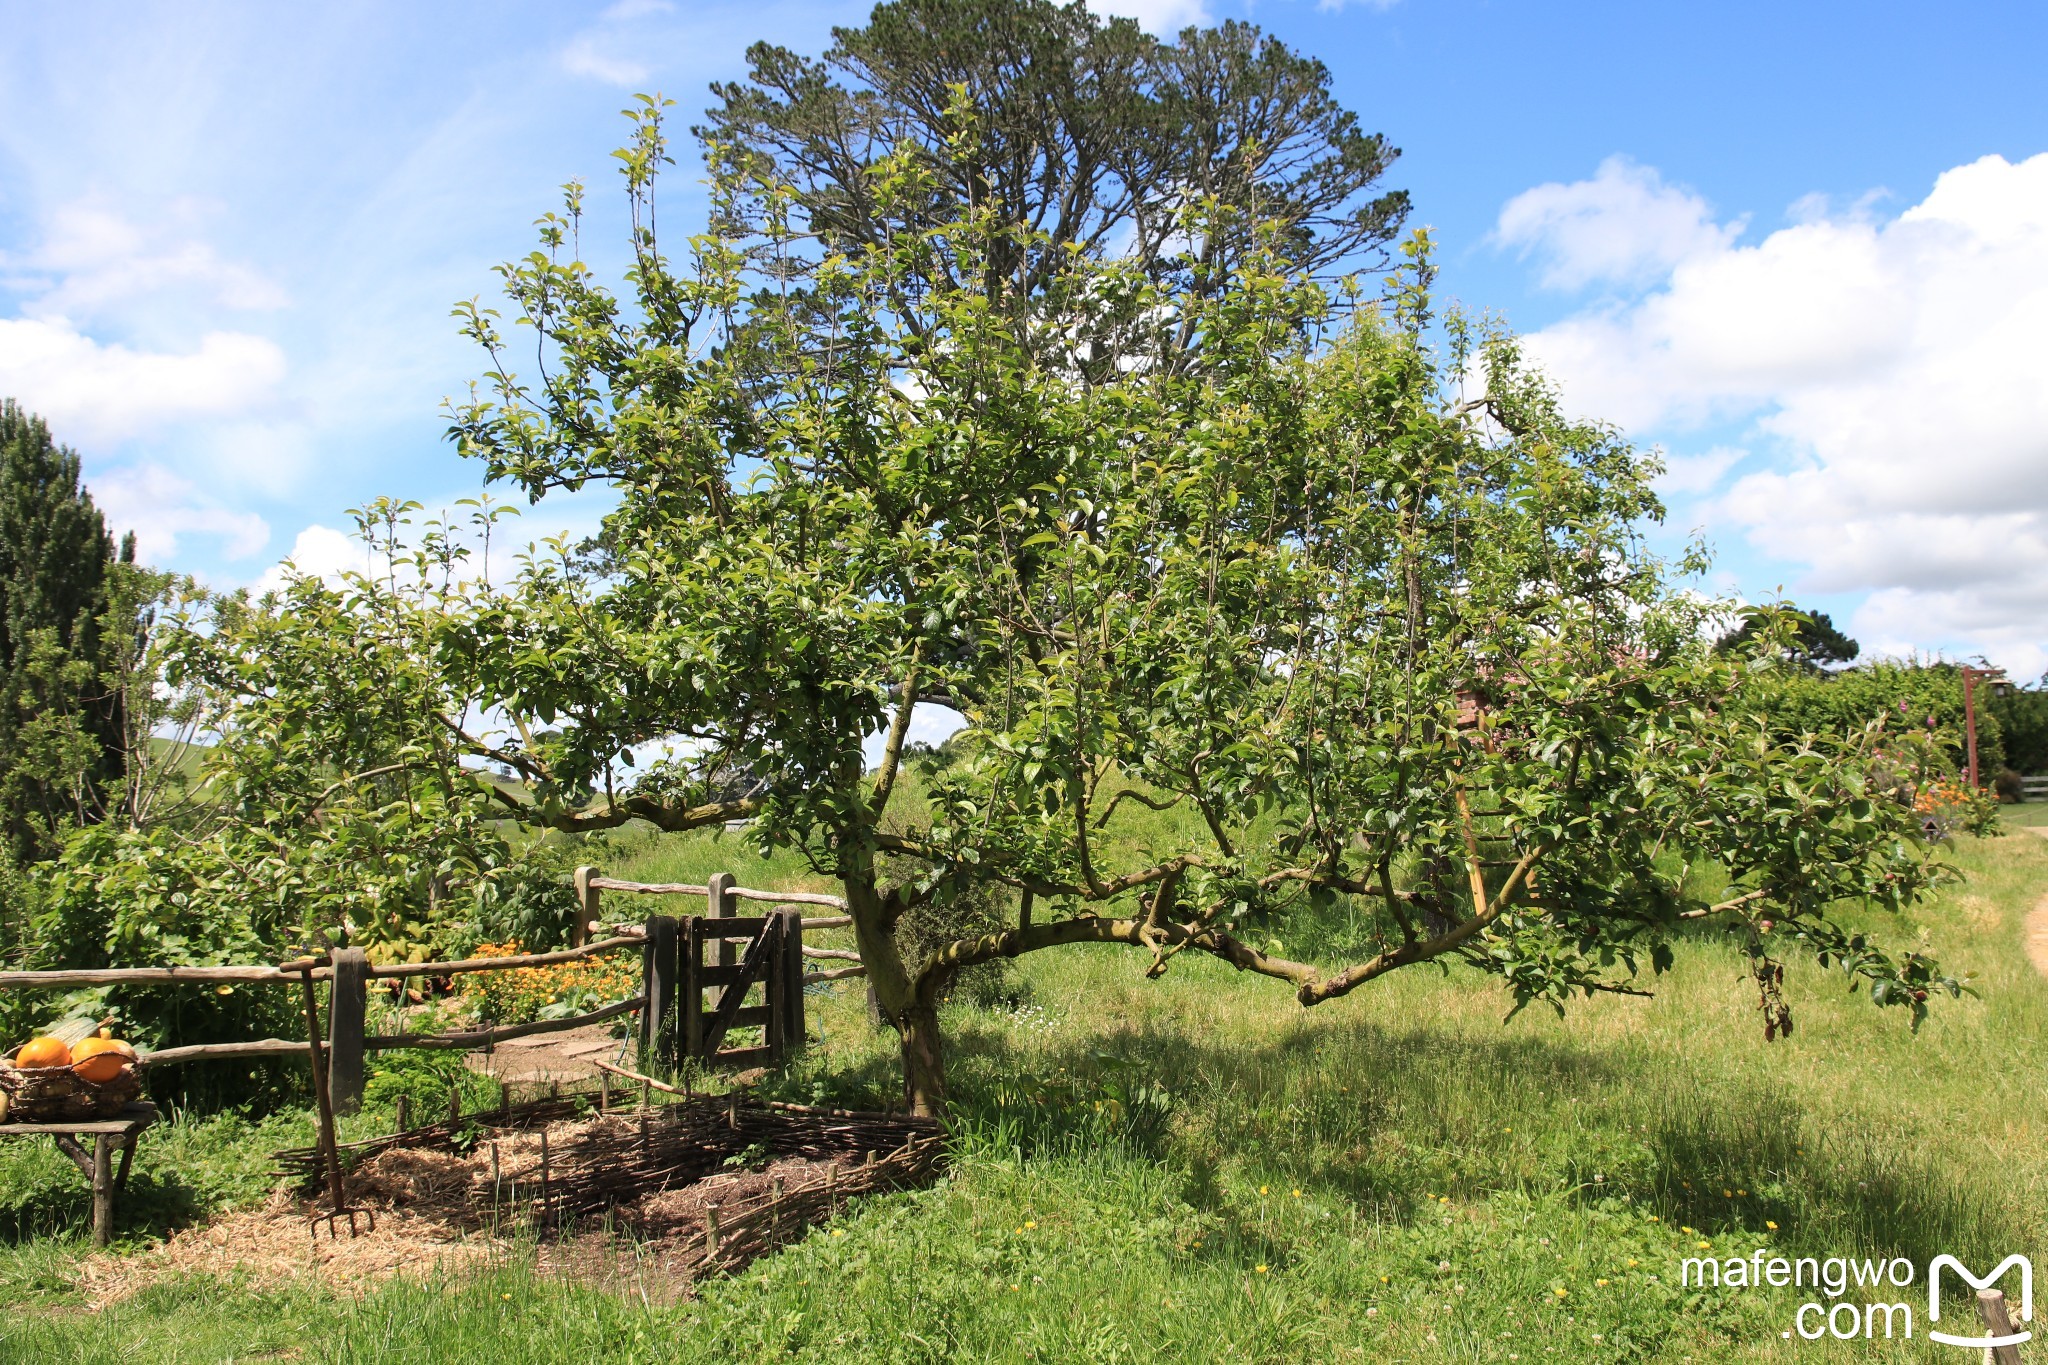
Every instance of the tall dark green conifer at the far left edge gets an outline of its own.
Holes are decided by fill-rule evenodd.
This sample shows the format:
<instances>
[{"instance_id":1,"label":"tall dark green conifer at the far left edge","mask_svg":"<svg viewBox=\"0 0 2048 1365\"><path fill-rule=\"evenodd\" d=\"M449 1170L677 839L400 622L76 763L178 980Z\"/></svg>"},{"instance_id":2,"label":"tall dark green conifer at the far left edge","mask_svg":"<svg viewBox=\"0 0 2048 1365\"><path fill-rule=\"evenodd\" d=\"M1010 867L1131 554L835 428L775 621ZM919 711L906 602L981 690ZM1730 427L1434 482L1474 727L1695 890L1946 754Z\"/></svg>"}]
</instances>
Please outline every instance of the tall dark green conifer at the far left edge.
<instances>
[{"instance_id":1,"label":"tall dark green conifer at the far left edge","mask_svg":"<svg viewBox=\"0 0 2048 1365\"><path fill-rule=\"evenodd\" d=\"M119 557L133 553L127 538ZM94 819L121 778L100 624L115 561L78 452L0 403L0 845L16 862Z\"/></svg>"}]
</instances>

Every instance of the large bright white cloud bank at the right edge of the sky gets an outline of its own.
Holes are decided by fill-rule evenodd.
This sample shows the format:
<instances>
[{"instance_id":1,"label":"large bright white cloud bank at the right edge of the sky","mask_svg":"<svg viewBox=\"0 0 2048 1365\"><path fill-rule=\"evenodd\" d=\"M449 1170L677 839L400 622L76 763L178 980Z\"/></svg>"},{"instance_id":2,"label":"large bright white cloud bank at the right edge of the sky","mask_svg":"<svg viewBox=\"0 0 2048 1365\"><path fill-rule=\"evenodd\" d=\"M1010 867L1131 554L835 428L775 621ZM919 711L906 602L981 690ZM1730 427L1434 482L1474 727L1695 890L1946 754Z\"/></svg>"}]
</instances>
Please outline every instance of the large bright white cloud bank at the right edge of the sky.
<instances>
[{"instance_id":1,"label":"large bright white cloud bank at the right edge of the sky","mask_svg":"<svg viewBox=\"0 0 2048 1365\"><path fill-rule=\"evenodd\" d=\"M1868 201L1839 217L1806 203L1804 221L1755 246L1706 219L1673 229L1686 215L1655 194L1575 196L1589 184L1546 203L1608 207L1526 219L1565 225L1567 246L1548 227L1524 239L1575 276L1620 278L1657 258L1645 241L1690 246L1663 250L1651 293L1530 338L1567 405L1665 436L1747 424L1745 444L1769 465L1710 503L1710 520L1806 565L1802 591L1872 593L1858 624L1880 649L2034 641L2036 657L2048 641L2048 153L1950 170L1884 223Z\"/></svg>"}]
</instances>

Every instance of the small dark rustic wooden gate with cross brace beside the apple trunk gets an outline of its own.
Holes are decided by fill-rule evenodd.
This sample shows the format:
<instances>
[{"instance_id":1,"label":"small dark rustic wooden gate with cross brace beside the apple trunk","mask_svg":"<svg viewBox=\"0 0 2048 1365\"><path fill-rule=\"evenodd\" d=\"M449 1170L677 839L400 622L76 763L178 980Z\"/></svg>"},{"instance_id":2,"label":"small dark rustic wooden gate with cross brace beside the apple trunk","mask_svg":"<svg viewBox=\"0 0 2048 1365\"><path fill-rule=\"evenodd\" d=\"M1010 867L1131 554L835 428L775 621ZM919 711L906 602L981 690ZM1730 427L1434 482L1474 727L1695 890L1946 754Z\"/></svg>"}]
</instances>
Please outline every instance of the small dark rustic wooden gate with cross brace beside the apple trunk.
<instances>
[{"instance_id":1,"label":"small dark rustic wooden gate with cross brace beside the apple trunk","mask_svg":"<svg viewBox=\"0 0 2048 1365\"><path fill-rule=\"evenodd\" d=\"M739 919L729 884L713 878L711 915L647 921L643 1042L653 1060L774 1066L803 1046L803 911ZM762 1029L760 1044L725 1046L748 1027Z\"/></svg>"}]
</instances>

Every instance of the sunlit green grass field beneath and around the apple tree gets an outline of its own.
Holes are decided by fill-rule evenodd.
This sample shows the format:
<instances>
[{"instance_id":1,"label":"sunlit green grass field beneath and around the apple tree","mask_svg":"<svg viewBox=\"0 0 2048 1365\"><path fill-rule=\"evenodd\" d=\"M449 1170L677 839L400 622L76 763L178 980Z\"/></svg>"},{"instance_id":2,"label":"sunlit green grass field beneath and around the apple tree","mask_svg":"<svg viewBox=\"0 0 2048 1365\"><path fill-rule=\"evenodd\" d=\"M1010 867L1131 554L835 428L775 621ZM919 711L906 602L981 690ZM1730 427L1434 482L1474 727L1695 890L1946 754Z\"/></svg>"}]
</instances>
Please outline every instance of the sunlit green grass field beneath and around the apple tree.
<instances>
[{"instance_id":1,"label":"sunlit green grass field beneath and around the apple tree","mask_svg":"<svg viewBox=\"0 0 2048 1365\"><path fill-rule=\"evenodd\" d=\"M1743 960L1681 945L1653 1001L1565 1021L1477 974L1411 970L1300 1011L1274 982L1124 950L1040 954L1018 1005L954 1007L961 1136L936 1189L870 1201L702 1297L662 1308L535 1277L338 1293L180 1279L86 1314L84 1189L0 1148L6 1361L1972 1361L1925 1340L1782 1336L1810 1289L1681 1287L1679 1259L2034 1252L2048 1232L2036 1040L2048 982L2021 919L2048 839L1966 839L1968 882L1874 925L1974 974L1909 1033L1898 1011L1790 972L1763 1044ZM788 882L737 841L621 849L623 876ZM860 997L778 1085L877 1103L893 1046ZM365 1115L377 1126L383 1115ZM172 1126L143 1144L131 1244L264 1193L299 1117ZM1849 1293L1855 1297L1855 1291ZM1962 1306L1958 1302L1956 1312ZM1942 1326L1952 1326L1944 1318Z\"/></svg>"}]
</instances>

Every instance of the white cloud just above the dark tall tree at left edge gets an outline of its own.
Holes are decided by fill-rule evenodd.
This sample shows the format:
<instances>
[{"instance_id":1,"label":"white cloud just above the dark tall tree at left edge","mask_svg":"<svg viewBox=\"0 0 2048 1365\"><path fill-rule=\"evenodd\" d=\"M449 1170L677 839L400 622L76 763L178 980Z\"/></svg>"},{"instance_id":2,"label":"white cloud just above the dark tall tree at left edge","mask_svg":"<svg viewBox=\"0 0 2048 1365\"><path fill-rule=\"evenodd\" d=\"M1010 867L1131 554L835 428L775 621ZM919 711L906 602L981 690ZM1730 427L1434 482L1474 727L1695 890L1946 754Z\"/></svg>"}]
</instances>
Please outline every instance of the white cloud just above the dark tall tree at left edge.
<instances>
[{"instance_id":1,"label":"white cloud just above the dark tall tree at left edge","mask_svg":"<svg viewBox=\"0 0 2048 1365\"><path fill-rule=\"evenodd\" d=\"M197 350L170 354L96 342L63 317L0 317L0 393L70 444L244 411L283 377L285 352L244 332L209 332Z\"/></svg>"}]
</instances>

